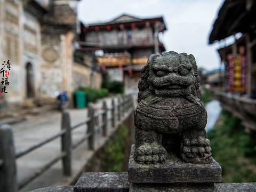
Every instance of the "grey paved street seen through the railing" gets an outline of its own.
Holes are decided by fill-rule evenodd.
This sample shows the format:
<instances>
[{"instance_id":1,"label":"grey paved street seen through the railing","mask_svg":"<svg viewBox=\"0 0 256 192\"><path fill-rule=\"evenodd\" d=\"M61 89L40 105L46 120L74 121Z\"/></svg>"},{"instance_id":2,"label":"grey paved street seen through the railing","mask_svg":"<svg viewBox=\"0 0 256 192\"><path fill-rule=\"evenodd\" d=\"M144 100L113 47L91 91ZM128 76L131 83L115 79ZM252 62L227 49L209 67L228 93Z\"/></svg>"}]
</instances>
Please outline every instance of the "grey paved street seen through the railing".
<instances>
[{"instance_id":1,"label":"grey paved street seen through the railing","mask_svg":"<svg viewBox=\"0 0 256 192\"><path fill-rule=\"evenodd\" d=\"M107 98L107 106L110 107L111 98ZM99 100L95 105L101 106L103 100ZM117 102L117 99L116 99ZM108 111L110 113L110 111ZM87 108L84 109L69 109L71 126L74 126L87 117ZM110 115L110 114L109 114ZM33 145L34 143L44 140L54 133L58 133L61 129L61 111L50 110L43 113L32 116L26 116L26 120L12 124L15 148L19 151L22 148ZM109 126L108 126L109 127ZM82 138L86 132L86 125L82 125L72 131L72 141L75 143L79 138ZM113 131L113 130L111 130ZM111 134L109 131L108 134ZM107 137L101 137L101 132L97 131L97 137L95 139L96 146L99 148L102 143L106 142ZM39 167L42 167L50 158L57 155L61 151L61 141L56 139L35 151L32 151L28 155L21 156L17 159L18 181L22 182L33 174ZM27 187L20 190L25 192L37 188L58 186L58 185L70 185L75 177L81 174L81 169L86 162L92 157L93 151L89 150L86 141L73 151L72 155L72 175L71 177L65 177L62 175L62 162L59 161L47 170L40 177L35 179Z\"/></svg>"}]
</instances>

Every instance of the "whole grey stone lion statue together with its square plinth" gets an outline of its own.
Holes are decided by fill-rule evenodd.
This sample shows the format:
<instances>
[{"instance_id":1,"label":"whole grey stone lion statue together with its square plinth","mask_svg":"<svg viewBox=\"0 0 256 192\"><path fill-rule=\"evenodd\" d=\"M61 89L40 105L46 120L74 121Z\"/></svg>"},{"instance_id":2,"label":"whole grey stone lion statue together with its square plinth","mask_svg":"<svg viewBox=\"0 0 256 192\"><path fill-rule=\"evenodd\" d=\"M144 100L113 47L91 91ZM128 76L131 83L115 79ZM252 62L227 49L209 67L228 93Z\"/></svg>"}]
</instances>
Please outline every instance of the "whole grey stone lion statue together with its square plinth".
<instances>
[{"instance_id":1,"label":"whole grey stone lion statue together with its square plinth","mask_svg":"<svg viewBox=\"0 0 256 192\"><path fill-rule=\"evenodd\" d=\"M221 182L221 167L206 139L199 83L193 55L149 57L134 113L130 191L214 191L214 183Z\"/></svg>"}]
</instances>

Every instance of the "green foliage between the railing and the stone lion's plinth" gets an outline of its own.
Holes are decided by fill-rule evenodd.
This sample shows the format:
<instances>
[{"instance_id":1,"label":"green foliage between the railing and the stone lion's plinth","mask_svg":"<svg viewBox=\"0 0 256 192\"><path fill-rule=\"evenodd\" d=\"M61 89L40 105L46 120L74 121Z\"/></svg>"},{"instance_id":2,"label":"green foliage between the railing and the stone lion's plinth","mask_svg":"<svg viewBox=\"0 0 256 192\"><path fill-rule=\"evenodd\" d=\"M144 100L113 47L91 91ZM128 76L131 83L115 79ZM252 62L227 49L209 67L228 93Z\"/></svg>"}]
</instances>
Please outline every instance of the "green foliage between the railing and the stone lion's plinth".
<instances>
[{"instance_id":1,"label":"green foliage between the railing and the stone lion's plinth","mask_svg":"<svg viewBox=\"0 0 256 192\"><path fill-rule=\"evenodd\" d=\"M124 169L126 139L128 128L121 125L115 136L108 140L105 153L100 153L100 161L103 171L121 172Z\"/></svg>"}]
</instances>

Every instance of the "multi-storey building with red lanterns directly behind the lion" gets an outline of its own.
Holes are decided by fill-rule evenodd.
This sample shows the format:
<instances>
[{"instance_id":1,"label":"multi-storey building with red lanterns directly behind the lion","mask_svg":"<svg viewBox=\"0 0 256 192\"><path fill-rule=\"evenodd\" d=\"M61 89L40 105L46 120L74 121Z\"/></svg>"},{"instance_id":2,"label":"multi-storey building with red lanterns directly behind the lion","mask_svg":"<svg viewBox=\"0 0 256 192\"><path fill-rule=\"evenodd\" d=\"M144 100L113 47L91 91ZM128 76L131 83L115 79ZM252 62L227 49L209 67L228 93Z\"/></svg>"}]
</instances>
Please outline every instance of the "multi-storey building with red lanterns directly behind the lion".
<instances>
[{"instance_id":1,"label":"multi-storey building with red lanterns directly behind the lion","mask_svg":"<svg viewBox=\"0 0 256 192\"><path fill-rule=\"evenodd\" d=\"M140 19L127 14L105 23L81 23L76 51L94 54L101 50L98 66L107 71L108 81L122 81L126 90L137 90L141 68L150 54L165 51L158 38L165 30L162 17Z\"/></svg>"}]
</instances>

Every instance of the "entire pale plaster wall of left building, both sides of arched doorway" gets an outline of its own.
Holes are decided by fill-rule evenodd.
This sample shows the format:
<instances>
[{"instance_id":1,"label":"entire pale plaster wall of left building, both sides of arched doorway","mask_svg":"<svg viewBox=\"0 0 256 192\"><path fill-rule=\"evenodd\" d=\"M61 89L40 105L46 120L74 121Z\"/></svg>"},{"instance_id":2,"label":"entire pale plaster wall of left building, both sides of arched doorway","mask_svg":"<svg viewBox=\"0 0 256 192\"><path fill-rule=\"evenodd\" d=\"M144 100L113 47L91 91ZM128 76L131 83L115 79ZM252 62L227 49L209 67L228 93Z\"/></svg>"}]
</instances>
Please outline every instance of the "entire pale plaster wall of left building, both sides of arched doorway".
<instances>
[{"instance_id":1,"label":"entire pale plaster wall of left building, both sides of arched doorway","mask_svg":"<svg viewBox=\"0 0 256 192\"><path fill-rule=\"evenodd\" d=\"M22 1L16 0L18 11L13 9L12 4L7 0L0 0L0 63L6 58L6 40L5 36L12 33L18 39L19 57L17 61L11 60L10 85L8 88L7 102L23 105L26 100L26 65L31 63L34 71L35 96L40 98L55 98L55 91L72 90L72 66L73 66L73 45L74 34L69 32L61 35L60 43L58 41L44 43L42 42L41 24L39 21L25 12L22 7ZM47 4L47 1L42 1ZM72 5L75 7L75 4ZM13 12L18 19L18 25L5 22L5 12ZM31 29L30 32L25 30ZM7 31L6 31L7 30ZM34 32L33 32L34 31ZM35 34L33 38L31 35ZM54 40L57 38L54 37ZM36 47L34 50L25 49L26 45ZM28 47L28 46L27 46ZM42 53L46 48L53 48L58 52L58 59L54 62L47 62L43 59ZM2 98L1 98L2 99ZM2 102L2 101L1 101Z\"/></svg>"}]
</instances>

